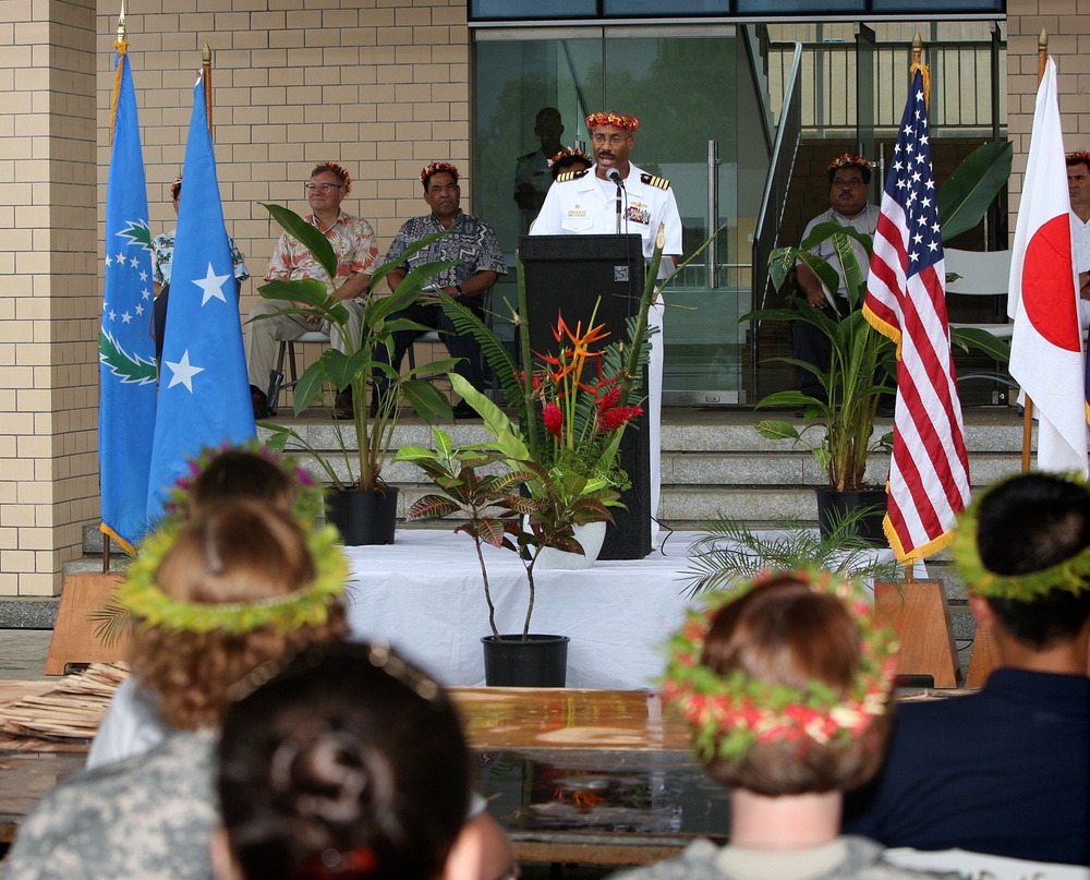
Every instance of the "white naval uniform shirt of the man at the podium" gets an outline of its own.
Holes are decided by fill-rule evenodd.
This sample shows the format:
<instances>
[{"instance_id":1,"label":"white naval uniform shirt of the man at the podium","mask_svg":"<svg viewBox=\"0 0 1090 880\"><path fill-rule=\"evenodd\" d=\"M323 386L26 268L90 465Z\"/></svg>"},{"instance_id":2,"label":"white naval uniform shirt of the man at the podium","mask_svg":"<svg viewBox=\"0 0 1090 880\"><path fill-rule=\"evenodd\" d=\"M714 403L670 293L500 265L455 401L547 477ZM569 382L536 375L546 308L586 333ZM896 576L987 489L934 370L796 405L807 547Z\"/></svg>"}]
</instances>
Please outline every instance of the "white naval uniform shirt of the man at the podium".
<instances>
[{"instance_id":1,"label":"white naval uniform shirt of the man at the podium","mask_svg":"<svg viewBox=\"0 0 1090 880\"><path fill-rule=\"evenodd\" d=\"M655 250L658 225L666 225L666 244L663 254L681 253L681 216L674 198L674 190L663 190L644 183L645 173L631 162L625 178L621 196L623 216L621 232L638 233L643 240L643 256L651 260ZM604 188L591 168L576 180L558 181L545 196L545 204L533 226L531 236L613 236L617 232L617 198L614 188ZM665 278L674 270L670 261L663 260L658 277Z\"/></svg>"}]
</instances>

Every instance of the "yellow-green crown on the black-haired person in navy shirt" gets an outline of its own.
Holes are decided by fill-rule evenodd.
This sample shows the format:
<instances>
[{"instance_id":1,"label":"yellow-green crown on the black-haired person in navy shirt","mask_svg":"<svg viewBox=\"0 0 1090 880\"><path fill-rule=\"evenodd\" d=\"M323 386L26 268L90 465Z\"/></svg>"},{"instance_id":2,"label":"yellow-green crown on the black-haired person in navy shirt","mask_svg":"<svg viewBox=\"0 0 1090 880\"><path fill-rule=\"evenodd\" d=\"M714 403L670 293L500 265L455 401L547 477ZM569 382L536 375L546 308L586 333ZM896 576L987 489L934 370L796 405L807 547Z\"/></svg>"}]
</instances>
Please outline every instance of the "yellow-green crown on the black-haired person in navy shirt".
<instances>
[{"instance_id":1,"label":"yellow-green crown on the black-haired person in navy shirt","mask_svg":"<svg viewBox=\"0 0 1090 880\"><path fill-rule=\"evenodd\" d=\"M1090 491L1090 484L1076 474L1053 474L1066 479L1076 485ZM1020 474L1012 477L1016 480ZM996 483L994 487L1003 485ZM1015 602L1032 602L1053 590L1067 590L1078 595L1090 590L1090 546L1083 547L1074 556L1069 556L1055 565L1038 571L1027 571L1022 575L1000 575L992 571L980 558L980 546L977 535L980 531L980 506L989 493L973 501L958 517L954 531L950 552L961 579L969 586L973 595L986 599L1009 599Z\"/></svg>"}]
</instances>

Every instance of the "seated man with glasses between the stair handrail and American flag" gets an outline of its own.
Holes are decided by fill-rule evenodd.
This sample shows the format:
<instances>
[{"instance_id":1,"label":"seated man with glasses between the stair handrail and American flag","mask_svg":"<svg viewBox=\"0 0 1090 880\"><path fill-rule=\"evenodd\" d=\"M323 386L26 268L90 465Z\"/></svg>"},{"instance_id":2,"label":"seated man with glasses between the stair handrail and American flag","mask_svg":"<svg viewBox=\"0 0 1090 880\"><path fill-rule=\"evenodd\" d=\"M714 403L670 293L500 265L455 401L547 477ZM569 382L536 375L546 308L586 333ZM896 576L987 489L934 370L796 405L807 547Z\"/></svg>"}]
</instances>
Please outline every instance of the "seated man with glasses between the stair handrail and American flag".
<instances>
[{"instance_id":1,"label":"seated man with glasses between the stair handrail and American flag","mask_svg":"<svg viewBox=\"0 0 1090 880\"><path fill-rule=\"evenodd\" d=\"M859 232L873 237L874 230L877 229L880 212L877 205L868 202L871 185L870 162L862 156L853 156L850 153L837 156L828 164L828 201L832 207L819 214L807 225L802 240L806 241L810 237L815 226L829 220L836 220L840 226L850 226ZM849 242L856 258L859 261L859 266L865 275L867 266L870 264L870 255L856 239L849 239ZM811 250L839 273L840 264L836 258L832 239L825 239ZM818 276L801 263L798 264L797 276L799 287L811 305L824 309L831 317L836 313L839 313L840 316L848 314L848 287L843 278L840 286L835 291L826 291ZM792 336L797 360L812 363L823 371L828 370L829 341L821 330L806 321L796 321L792 325ZM813 373L797 366L795 375L798 389L802 394L816 397L820 400L825 399L825 389ZM804 410L799 410L798 414L804 414Z\"/></svg>"}]
</instances>

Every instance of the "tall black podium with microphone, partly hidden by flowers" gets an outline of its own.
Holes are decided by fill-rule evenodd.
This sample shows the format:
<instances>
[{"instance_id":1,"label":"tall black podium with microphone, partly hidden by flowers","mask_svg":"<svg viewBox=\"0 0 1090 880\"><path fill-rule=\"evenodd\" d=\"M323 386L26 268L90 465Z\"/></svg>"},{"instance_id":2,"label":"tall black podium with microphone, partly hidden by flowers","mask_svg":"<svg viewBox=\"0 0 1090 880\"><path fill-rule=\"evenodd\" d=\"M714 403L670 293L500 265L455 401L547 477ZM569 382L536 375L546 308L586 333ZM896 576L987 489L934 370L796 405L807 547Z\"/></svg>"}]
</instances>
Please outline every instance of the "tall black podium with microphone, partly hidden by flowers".
<instances>
[{"instance_id":1,"label":"tall black podium with microphone, partly hidden by flowers","mask_svg":"<svg viewBox=\"0 0 1090 880\"><path fill-rule=\"evenodd\" d=\"M524 236L519 254L526 279L530 348L555 354L552 327L557 314L574 327L595 322L609 331L606 343L627 339L626 320L635 315L643 296L643 243L639 236ZM601 301L600 301L601 299ZM659 341L658 345L662 345ZM647 394L643 371L642 395ZM629 424L620 447L620 465L632 481L621 495L626 508L614 507L616 525L606 530L602 559L642 559L651 553L651 445L647 413Z\"/></svg>"}]
</instances>

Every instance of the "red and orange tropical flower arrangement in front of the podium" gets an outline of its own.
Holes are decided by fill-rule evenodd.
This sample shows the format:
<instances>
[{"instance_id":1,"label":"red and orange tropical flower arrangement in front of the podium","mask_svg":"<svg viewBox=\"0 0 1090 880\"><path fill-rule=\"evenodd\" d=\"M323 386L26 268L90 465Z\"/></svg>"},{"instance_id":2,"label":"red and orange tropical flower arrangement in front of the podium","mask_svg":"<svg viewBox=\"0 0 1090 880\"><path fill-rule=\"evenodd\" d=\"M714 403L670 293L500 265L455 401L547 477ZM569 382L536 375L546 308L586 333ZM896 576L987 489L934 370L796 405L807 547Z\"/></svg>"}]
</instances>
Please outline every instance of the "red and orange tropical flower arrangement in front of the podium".
<instances>
[{"instance_id":1,"label":"red and orange tropical flower arrangement in front of the podium","mask_svg":"<svg viewBox=\"0 0 1090 880\"><path fill-rule=\"evenodd\" d=\"M605 365L611 352L592 348L609 334L605 325L594 326L594 314L590 325L584 331L580 322L572 330L564 315L557 315L553 337L559 352L535 352L543 365L534 371L533 395L548 432L541 463L554 478L586 478L584 493L607 486L625 490L630 481L617 466L619 435L643 408L623 402L621 371Z\"/></svg>"}]
</instances>

